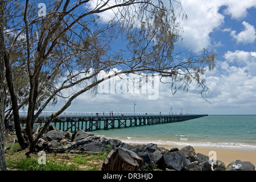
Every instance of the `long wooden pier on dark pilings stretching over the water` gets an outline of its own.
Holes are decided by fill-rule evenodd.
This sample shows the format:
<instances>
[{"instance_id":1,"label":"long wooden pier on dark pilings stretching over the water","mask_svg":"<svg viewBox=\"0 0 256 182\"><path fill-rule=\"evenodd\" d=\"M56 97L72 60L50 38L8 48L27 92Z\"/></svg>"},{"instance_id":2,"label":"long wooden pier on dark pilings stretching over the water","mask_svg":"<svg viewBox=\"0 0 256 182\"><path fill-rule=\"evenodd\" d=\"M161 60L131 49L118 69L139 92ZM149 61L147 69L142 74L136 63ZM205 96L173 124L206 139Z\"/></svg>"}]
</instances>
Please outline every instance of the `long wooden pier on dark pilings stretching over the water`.
<instances>
[{"instance_id":1,"label":"long wooden pier on dark pilings stretching over the water","mask_svg":"<svg viewBox=\"0 0 256 182\"><path fill-rule=\"evenodd\" d=\"M44 112L35 123L44 125L50 112ZM51 125L62 131L93 131L119 129L121 127L158 125L162 123L181 122L208 116L208 114L170 114L170 113L76 113L67 112L53 119ZM26 115L20 115L26 121ZM25 122L21 125L24 126Z\"/></svg>"}]
</instances>

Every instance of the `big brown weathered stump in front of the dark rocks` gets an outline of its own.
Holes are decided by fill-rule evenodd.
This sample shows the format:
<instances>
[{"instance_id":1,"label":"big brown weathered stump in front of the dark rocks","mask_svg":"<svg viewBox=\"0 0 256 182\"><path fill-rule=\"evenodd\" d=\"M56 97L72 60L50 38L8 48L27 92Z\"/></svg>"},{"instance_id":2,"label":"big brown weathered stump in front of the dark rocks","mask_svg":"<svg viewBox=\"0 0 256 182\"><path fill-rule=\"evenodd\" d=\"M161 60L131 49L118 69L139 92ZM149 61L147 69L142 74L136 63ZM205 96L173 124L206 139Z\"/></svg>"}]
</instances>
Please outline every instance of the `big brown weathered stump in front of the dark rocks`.
<instances>
[{"instance_id":1,"label":"big brown weathered stump in front of the dark rocks","mask_svg":"<svg viewBox=\"0 0 256 182\"><path fill-rule=\"evenodd\" d=\"M143 164L143 159L135 152L126 148L112 150L104 159L102 171L138 171Z\"/></svg>"}]
</instances>

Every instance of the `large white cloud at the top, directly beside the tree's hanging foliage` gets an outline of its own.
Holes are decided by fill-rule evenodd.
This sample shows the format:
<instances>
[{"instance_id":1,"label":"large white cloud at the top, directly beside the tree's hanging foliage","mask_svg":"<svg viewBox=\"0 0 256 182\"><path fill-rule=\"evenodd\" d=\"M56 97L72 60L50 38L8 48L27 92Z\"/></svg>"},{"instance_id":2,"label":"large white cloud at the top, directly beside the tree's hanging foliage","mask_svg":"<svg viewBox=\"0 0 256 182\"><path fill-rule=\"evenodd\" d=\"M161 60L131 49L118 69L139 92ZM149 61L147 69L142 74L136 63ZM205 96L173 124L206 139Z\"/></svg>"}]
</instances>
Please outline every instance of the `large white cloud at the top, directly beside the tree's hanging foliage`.
<instances>
[{"instance_id":1,"label":"large white cloud at the top, directly beside the tree's hanging foliage","mask_svg":"<svg viewBox=\"0 0 256 182\"><path fill-rule=\"evenodd\" d=\"M224 23L224 16L218 13L216 1L182 1L187 20L181 21L183 27L183 44L195 52L211 46L210 32Z\"/></svg>"}]
</instances>

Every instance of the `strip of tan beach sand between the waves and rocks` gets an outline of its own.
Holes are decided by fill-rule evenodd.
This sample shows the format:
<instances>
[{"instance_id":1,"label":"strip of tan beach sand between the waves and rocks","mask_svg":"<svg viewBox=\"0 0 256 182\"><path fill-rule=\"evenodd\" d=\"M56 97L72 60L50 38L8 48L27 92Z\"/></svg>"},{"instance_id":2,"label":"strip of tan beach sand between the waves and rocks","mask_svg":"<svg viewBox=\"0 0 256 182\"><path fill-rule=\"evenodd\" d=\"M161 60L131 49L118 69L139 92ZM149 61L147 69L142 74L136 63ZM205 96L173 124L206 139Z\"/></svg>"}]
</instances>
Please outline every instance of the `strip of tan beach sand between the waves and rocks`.
<instances>
[{"instance_id":1,"label":"strip of tan beach sand between the waves and rocks","mask_svg":"<svg viewBox=\"0 0 256 182\"><path fill-rule=\"evenodd\" d=\"M170 150L171 148L179 148L179 150L183 147L175 147L175 146L159 146L164 147ZM192 146L193 147L193 146ZM224 150L224 149L215 149L215 148L195 148L196 153L201 153L207 156L210 151L216 151L217 160L221 160L228 166L234 160L241 160L242 162L251 162L256 167L256 151L242 151L242 150Z\"/></svg>"}]
</instances>

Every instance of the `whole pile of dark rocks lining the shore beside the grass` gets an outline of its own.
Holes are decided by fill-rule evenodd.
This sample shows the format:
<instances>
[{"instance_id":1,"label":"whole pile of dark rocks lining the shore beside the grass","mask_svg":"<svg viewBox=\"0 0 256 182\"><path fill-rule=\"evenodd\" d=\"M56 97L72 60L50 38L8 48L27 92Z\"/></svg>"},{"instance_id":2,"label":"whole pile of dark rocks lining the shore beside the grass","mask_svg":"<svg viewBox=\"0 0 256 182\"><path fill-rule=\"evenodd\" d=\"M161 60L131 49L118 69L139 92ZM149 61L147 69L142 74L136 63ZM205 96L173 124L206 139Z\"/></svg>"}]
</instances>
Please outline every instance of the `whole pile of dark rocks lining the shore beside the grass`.
<instances>
[{"instance_id":1,"label":"whole pile of dark rocks lining the shore beside the grass","mask_svg":"<svg viewBox=\"0 0 256 182\"><path fill-rule=\"evenodd\" d=\"M188 170L188 171L224 171L224 170L255 170L250 162L235 160L228 167L220 160L212 161L209 157L196 153L192 146L179 150L167 150L157 144L137 144L135 146L123 143L121 140L94 136L93 133L79 130L76 133L57 130L49 126L47 132L36 144L38 151L94 153L109 152L104 159L102 170Z\"/></svg>"}]
</instances>

